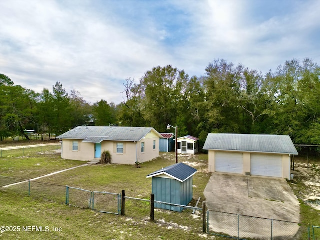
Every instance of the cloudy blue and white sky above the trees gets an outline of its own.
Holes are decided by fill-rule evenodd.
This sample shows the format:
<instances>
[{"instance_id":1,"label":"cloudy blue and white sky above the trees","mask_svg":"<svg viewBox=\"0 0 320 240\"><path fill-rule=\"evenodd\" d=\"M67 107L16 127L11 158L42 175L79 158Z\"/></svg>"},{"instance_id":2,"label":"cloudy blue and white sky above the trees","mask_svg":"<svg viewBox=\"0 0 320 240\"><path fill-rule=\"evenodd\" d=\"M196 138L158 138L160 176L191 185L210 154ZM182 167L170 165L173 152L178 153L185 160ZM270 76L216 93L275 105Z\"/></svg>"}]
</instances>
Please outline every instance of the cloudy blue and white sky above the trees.
<instances>
[{"instance_id":1,"label":"cloudy blue and white sky above the trees","mask_svg":"<svg viewBox=\"0 0 320 240\"><path fill-rule=\"evenodd\" d=\"M0 73L118 104L125 78L158 65L201 76L218 58L263 74L320 64L319 12L320 0L0 0Z\"/></svg>"}]
</instances>

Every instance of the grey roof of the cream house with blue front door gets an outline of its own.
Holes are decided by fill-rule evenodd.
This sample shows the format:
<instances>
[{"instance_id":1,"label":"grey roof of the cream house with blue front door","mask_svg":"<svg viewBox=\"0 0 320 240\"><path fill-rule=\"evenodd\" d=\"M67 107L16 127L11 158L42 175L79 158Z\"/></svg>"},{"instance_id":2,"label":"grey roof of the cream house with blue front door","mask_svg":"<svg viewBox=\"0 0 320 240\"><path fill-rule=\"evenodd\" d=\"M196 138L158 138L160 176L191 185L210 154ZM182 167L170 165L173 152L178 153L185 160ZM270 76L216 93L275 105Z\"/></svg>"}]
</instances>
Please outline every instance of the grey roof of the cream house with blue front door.
<instances>
[{"instance_id":1,"label":"grey roof of the cream house with blue front door","mask_svg":"<svg viewBox=\"0 0 320 240\"><path fill-rule=\"evenodd\" d=\"M127 126L77 126L57 138L82 139L83 142L94 143L101 141L139 141L152 130L162 138L152 127Z\"/></svg>"}]
</instances>

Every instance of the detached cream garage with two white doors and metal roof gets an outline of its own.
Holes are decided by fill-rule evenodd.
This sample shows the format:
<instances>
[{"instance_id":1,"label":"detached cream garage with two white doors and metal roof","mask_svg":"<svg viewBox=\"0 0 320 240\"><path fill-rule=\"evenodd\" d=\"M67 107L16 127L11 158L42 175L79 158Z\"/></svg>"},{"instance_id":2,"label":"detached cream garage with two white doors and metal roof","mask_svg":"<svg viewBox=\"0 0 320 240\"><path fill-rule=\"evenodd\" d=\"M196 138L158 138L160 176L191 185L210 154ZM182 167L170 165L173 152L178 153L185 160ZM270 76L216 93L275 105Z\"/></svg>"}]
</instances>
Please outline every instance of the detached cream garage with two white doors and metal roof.
<instances>
[{"instance_id":1,"label":"detached cream garage with two white doors and metal roof","mask_svg":"<svg viewBox=\"0 0 320 240\"><path fill-rule=\"evenodd\" d=\"M290 136L209 133L209 171L271 176L290 180L291 155L297 155Z\"/></svg>"}]
</instances>

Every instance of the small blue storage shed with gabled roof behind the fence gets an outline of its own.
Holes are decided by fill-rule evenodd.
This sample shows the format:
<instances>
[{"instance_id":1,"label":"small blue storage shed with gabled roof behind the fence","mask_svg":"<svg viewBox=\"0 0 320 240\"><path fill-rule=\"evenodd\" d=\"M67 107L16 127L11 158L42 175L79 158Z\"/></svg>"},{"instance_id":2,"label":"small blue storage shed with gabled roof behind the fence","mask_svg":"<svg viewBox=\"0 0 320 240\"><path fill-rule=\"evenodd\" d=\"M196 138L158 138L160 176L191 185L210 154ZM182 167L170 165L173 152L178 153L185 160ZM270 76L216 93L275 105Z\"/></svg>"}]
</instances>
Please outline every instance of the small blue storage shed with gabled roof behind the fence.
<instances>
[{"instance_id":1,"label":"small blue storage shed with gabled roof behind the fence","mask_svg":"<svg viewBox=\"0 0 320 240\"><path fill-rule=\"evenodd\" d=\"M152 177L154 200L187 205L193 197L193 175L197 170L182 162L155 171ZM154 203L154 207L181 212L183 207Z\"/></svg>"}]
</instances>

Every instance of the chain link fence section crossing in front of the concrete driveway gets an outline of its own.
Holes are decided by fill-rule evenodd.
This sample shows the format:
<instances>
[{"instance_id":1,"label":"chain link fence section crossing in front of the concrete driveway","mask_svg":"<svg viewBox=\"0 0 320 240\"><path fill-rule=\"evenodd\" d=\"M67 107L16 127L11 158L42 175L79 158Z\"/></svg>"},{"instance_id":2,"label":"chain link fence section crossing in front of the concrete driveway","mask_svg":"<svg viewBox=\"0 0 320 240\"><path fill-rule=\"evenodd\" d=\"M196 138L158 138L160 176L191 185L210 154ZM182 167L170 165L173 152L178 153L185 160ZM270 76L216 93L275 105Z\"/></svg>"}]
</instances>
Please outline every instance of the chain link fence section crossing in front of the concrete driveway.
<instances>
[{"instance_id":1,"label":"chain link fence section crossing in front of the concrete driveway","mask_svg":"<svg viewBox=\"0 0 320 240\"><path fill-rule=\"evenodd\" d=\"M303 239L308 226L297 222L207 211L207 232L235 239L287 240Z\"/></svg>"}]
</instances>

